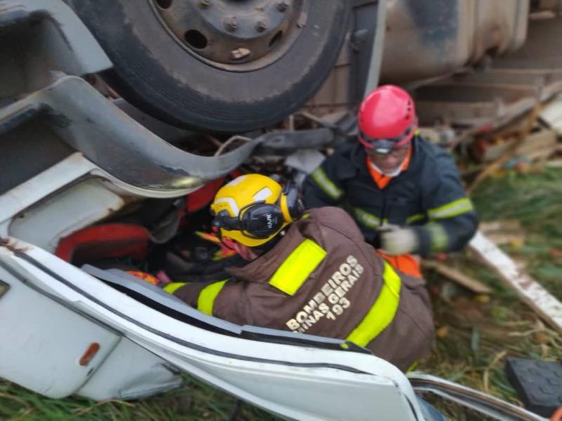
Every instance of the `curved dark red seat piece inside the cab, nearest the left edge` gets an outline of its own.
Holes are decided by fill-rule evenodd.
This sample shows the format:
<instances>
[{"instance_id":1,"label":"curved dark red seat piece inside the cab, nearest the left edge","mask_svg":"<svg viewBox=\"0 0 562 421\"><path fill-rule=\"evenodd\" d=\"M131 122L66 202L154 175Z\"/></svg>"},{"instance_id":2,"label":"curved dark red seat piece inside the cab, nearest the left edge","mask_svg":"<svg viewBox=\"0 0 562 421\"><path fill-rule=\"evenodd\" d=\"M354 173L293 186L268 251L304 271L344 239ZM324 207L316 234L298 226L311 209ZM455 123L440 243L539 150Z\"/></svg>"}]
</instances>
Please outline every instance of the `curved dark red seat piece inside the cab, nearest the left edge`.
<instances>
[{"instance_id":1,"label":"curved dark red seat piece inside the cab, nearest the left edge","mask_svg":"<svg viewBox=\"0 0 562 421\"><path fill-rule=\"evenodd\" d=\"M138 225L105 224L80 229L61 239L55 255L79 265L89 260L130 255L144 259L150 234Z\"/></svg>"}]
</instances>

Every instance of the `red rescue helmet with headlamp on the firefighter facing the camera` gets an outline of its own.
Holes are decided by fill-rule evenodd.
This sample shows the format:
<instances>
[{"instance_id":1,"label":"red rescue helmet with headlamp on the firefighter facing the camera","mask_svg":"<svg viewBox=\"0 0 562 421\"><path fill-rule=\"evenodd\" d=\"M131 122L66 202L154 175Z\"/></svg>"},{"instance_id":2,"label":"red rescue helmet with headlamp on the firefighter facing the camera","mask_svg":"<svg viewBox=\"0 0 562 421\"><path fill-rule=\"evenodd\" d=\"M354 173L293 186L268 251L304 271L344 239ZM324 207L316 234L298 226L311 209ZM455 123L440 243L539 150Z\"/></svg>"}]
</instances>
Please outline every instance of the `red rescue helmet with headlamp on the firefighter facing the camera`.
<instances>
[{"instance_id":1,"label":"red rescue helmet with headlamp on the firefighter facing the camera","mask_svg":"<svg viewBox=\"0 0 562 421\"><path fill-rule=\"evenodd\" d=\"M412 140L417 131L414 100L402 88L379 86L361 103L359 140L367 149L385 154Z\"/></svg>"}]
</instances>

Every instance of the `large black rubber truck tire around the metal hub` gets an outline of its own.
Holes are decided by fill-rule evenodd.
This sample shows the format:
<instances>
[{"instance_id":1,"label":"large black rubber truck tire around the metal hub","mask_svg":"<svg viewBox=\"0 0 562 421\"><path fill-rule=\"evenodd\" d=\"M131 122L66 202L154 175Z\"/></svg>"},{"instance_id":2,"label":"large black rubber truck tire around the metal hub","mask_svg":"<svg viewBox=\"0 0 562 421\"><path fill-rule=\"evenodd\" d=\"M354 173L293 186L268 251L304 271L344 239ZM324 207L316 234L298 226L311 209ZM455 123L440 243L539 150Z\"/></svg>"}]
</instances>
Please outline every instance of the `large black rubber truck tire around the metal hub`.
<instances>
[{"instance_id":1,"label":"large black rubber truck tire around the metal hub","mask_svg":"<svg viewBox=\"0 0 562 421\"><path fill-rule=\"evenodd\" d=\"M351 15L346 0L300 0L306 21L287 51L240 71L190 53L152 0L67 1L112 60L102 76L115 91L157 119L217 133L270 126L302 107L334 65Z\"/></svg>"}]
</instances>

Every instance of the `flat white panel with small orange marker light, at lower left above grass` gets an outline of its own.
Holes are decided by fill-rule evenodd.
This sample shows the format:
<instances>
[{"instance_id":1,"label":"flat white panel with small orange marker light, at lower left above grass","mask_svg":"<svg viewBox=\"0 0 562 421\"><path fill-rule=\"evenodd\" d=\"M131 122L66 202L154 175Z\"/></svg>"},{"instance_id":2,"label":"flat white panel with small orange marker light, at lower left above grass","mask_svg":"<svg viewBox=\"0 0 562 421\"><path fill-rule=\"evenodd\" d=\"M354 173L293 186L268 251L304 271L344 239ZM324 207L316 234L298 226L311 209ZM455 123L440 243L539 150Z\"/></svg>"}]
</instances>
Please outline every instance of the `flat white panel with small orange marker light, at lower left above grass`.
<instances>
[{"instance_id":1,"label":"flat white panel with small orange marker light, at lower left above grass","mask_svg":"<svg viewBox=\"0 0 562 421\"><path fill-rule=\"evenodd\" d=\"M0 265L6 258L0 251ZM51 398L74 393L120 336L38 293L1 266L0 279L10 286L0 298L0 377ZM81 356L94 342L99 351L81 366Z\"/></svg>"}]
</instances>

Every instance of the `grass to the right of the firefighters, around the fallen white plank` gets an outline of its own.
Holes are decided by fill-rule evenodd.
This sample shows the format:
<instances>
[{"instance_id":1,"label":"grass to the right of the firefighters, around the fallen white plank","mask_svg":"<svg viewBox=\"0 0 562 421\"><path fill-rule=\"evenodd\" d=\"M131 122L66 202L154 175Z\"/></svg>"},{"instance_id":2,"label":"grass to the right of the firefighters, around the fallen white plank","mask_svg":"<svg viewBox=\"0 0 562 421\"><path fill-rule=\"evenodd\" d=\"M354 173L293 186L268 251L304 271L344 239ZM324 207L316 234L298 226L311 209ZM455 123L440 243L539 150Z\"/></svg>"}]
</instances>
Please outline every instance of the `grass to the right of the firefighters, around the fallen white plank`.
<instances>
[{"instance_id":1,"label":"grass to the right of the firefighters, around the fallen white plank","mask_svg":"<svg viewBox=\"0 0 562 421\"><path fill-rule=\"evenodd\" d=\"M483 221L518 220L525 243L504 250L526 263L528 272L562 300L562 171L508 173L483 183L472 197ZM504 374L507 356L562 361L562 338L530 307L468 252L447 264L483 281L493 290L489 298L474 297L436 274L428 273L437 338L420 370L474 387L519 404ZM487 302L487 300L489 301Z\"/></svg>"}]
</instances>

